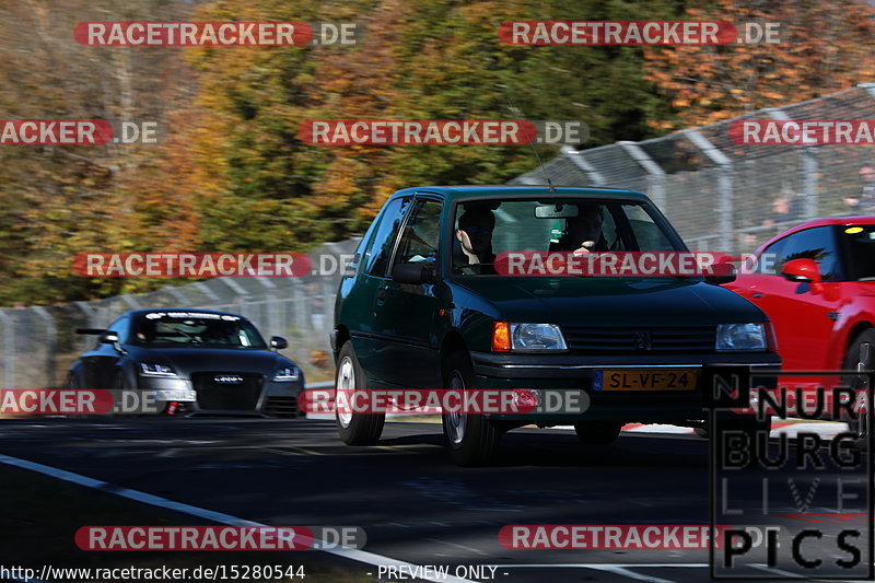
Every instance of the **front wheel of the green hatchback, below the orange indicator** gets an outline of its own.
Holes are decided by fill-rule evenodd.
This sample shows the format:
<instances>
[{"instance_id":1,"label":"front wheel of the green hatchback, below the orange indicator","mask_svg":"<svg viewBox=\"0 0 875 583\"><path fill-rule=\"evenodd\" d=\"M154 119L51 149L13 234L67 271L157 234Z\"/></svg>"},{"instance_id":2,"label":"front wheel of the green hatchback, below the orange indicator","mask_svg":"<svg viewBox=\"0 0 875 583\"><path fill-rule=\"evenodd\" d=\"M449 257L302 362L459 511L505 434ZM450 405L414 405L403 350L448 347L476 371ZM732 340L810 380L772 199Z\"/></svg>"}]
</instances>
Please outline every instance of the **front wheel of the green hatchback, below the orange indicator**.
<instances>
[{"instance_id":1,"label":"front wheel of the green hatchback, below the orange indicator","mask_svg":"<svg viewBox=\"0 0 875 583\"><path fill-rule=\"evenodd\" d=\"M465 352L454 352L444 362L444 386L465 390L474 386L474 368ZM483 415L443 413L444 438L457 466L489 464L499 448L501 430Z\"/></svg>"}]
</instances>

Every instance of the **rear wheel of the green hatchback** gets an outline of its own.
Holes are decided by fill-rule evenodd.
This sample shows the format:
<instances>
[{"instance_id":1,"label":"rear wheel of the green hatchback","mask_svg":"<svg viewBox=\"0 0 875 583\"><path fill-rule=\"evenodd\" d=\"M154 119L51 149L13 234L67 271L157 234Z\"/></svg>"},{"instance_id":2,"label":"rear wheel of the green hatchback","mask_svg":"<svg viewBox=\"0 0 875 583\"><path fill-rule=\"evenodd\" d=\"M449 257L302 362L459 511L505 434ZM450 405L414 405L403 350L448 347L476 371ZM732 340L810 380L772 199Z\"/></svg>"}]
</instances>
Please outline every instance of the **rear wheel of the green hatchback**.
<instances>
[{"instance_id":1,"label":"rear wheel of the green hatchback","mask_svg":"<svg viewBox=\"0 0 875 583\"><path fill-rule=\"evenodd\" d=\"M347 340L337 355L337 374L335 376L335 422L340 440L347 445L372 445L380 441L385 413L355 413L342 409L342 390L364 390L368 378L355 358L352 342Z\"/></svg>"}]
</instances>

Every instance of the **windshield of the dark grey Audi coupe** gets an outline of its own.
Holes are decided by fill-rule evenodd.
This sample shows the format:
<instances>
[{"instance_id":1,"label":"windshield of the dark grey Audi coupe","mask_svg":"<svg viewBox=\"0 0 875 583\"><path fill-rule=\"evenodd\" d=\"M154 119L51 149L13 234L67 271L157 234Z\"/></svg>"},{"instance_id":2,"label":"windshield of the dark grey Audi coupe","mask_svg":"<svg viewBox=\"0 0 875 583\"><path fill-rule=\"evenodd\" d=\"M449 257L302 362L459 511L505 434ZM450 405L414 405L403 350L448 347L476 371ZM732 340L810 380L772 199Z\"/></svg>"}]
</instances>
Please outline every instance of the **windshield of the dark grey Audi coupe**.
<instances>
[{"instance_id":1,"label":"windshield of the dark grey Audi coupe","mask_svg":"<svg viewBox=\"0 0 875 583\"><path fill-rule=\"evenodd\" d=\"M255 326L230 314L151 312L135 319L132 333L138 346L267 348Z\"/></svg>"}]
</instances>

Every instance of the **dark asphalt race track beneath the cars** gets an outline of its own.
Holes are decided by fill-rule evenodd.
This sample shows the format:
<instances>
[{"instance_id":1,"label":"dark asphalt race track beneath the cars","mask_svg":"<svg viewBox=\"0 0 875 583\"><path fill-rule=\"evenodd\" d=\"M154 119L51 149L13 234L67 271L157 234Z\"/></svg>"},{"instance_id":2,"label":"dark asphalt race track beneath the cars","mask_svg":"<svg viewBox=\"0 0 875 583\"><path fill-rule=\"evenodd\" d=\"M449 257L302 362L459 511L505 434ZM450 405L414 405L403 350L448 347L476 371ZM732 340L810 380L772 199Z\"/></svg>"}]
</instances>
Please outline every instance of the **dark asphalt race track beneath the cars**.
<instances>
[{"instance_id":1,"label":"dark asphalt race track beneath the cars","mask_svg":"<svg viewBox=\"0 0 875 583\"><path fill-rule=\"evenodd\" d=\"M264 524L360 526L366 551L451 572L498 565L494 580L506 583L710 579L705 550L498 541L509 524L707 525L709 443L696 435L625 432L588 446L573 432L522 429L504 435L486 468L451 465L434 423L387 423L380 445L349 447L332 421L313 419L2 420L0 444L8 456ZM770 510L794 512L792 503ZM839 556L824 548L825 559Z\"/></svg>"}]
</instances>

